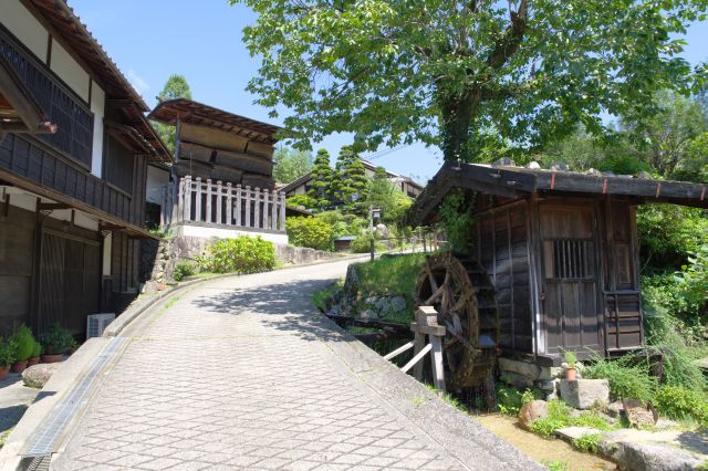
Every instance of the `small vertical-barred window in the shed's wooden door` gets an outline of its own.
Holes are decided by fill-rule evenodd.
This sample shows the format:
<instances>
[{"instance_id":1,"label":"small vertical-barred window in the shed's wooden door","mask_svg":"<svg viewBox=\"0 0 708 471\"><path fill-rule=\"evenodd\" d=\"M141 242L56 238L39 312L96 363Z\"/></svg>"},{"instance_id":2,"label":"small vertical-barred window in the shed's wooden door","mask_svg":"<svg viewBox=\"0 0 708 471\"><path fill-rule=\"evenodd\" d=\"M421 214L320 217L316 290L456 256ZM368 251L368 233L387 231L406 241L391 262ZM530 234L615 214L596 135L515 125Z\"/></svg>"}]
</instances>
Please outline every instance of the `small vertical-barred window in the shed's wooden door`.
<instances>
[{"instance_id":1,"label":"small vertical-barred window in the shed's wooden door","mask_svg":"<svg viewBox=\"0 0 708 471\"><path fill-rule=\"evenodd\" d=\"M585 239L545 241L546 278L587 279L593 276L593 242Z\"/></svg>"}]
</instances>

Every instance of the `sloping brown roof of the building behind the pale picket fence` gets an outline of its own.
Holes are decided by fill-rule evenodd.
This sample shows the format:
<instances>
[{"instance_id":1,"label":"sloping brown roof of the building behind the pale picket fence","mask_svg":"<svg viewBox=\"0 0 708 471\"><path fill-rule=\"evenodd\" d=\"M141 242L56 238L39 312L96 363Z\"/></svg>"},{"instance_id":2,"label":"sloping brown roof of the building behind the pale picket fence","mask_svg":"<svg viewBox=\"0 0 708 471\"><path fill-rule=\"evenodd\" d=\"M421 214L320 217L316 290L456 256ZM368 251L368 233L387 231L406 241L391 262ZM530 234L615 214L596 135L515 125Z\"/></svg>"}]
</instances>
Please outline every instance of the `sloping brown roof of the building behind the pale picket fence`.
<instances>
[{"instance_id":1,"label":"sloping brown roof of the building behind the pale picket fence","mask_svg":"<svg viewBox=\"0 0 708 471\"><path fill-rule=\"evenodd\" d=\"M160 102L148 115L148 119L174 125L177 119L183 123L212 127L216 129L235 133L251 140L274 144L278 142L275 134L281 127L262 123L204 103L187 98L166 100Z\"/></svg>"}]
</instances>

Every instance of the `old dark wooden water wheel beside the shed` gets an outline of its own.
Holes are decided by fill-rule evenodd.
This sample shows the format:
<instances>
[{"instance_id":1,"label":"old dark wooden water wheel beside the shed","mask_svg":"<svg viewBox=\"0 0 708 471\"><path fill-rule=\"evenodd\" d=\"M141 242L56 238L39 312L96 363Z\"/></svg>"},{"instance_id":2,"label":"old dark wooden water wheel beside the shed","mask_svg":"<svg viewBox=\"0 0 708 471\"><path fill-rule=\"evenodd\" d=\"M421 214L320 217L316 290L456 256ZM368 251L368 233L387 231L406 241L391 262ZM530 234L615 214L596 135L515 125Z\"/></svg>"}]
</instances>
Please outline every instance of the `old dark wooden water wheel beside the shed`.
<instances>
[{"instance_id":1,"label":"old dark wooden water wheel beside the shed","mask_svg":"<svg viewBox=\"0 0 708 471\"><path fill-rule=\"evenodd\" d=\"M476 260L451 252L430 255L416 283L416 304L431 305L447 328L442 343L448 389L485 389L493 399L492 370L499 345L494 287ZM490 390L491 389L491 390Z\"/></svg>"}]
</instances>

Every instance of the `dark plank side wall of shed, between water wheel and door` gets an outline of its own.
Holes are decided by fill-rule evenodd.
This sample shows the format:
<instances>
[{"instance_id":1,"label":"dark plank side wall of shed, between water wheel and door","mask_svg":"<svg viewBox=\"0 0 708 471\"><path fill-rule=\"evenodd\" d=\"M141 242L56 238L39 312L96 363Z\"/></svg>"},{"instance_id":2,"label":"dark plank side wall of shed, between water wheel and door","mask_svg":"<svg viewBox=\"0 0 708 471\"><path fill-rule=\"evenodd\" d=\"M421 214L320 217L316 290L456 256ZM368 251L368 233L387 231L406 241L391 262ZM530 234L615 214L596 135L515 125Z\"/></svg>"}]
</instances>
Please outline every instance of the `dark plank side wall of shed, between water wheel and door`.
<instances>
[{"instance_id":1,"label":"dark plank side wall of shed, between water wheel and door","mask_svg":"<svg viewBox=\"0 0 708 471\"><path fill-rule=\"evenodd\" d=\"M528 203L519 201L477 214L475 231L477 258L496 289L500 346L512 353L533 353Z\"/></svg>"}]
</instances>

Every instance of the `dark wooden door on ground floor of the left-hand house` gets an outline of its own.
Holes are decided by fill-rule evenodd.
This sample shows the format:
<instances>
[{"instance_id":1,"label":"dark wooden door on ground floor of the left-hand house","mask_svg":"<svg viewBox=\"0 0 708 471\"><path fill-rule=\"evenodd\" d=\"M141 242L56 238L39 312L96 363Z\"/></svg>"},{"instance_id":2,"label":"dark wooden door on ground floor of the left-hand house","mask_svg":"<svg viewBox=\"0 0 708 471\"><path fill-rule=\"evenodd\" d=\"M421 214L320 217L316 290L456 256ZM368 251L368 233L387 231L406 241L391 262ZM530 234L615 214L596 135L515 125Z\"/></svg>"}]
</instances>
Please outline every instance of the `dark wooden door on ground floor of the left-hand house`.
<instances>
[{"instance_id":1,"label":"dark wooden door on ground floor of the left-hand house","mask_svg":"<svg viewBox=\"0 0 708 471\"><path fill-rule=\"evenodd\" d=\"M101 253L96 241L42 233L37 331L45 332L55 322L81 334L86 315L98 312Z\"/></svg>"}]
</instances>

